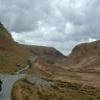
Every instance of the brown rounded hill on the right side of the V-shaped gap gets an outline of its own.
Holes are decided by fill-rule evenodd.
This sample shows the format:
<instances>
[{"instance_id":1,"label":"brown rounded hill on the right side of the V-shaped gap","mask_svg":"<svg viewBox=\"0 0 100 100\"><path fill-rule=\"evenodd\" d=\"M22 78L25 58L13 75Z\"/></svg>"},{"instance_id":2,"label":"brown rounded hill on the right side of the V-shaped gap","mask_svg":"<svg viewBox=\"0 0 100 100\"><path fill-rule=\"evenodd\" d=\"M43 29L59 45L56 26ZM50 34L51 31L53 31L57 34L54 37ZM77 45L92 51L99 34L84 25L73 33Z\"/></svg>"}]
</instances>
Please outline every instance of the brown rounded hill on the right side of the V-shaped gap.
<instances>
[{"instance_id":1,"label":"brown rounded hill on the right side of the V-shaped gap","mask_svg":"<svg viewBox=\"0 0 100 100\"><path fill-rule=\"evenodd\" d=\"M67 59L68 66L84 71L100 70L100 40L77 45Z\"/></svg>"}]
</instances>

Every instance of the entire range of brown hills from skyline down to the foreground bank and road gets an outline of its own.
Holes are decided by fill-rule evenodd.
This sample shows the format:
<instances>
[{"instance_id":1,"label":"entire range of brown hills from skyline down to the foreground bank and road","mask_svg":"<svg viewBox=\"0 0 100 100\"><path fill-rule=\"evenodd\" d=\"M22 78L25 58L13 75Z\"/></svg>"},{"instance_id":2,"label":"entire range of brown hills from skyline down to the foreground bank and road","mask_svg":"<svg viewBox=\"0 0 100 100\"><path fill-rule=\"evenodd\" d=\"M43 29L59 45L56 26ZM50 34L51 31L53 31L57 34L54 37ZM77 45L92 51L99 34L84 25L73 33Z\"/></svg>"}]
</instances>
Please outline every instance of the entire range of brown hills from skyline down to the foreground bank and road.
<instances>
[{"instance_id":1,"label":"entire range of brown hills from skyline down to the foreground bank and road","mask_svg":"<svg viewBox=\"0 0 100 100\"><path fill-rule=\"evenodd\" d=\"M17 43L0 24L0 73L15 73L29 66L29 60L32 66L23 73L99 87L100 40L79 44L66 57L52 47Z\"/></svg>"}]
</instances>

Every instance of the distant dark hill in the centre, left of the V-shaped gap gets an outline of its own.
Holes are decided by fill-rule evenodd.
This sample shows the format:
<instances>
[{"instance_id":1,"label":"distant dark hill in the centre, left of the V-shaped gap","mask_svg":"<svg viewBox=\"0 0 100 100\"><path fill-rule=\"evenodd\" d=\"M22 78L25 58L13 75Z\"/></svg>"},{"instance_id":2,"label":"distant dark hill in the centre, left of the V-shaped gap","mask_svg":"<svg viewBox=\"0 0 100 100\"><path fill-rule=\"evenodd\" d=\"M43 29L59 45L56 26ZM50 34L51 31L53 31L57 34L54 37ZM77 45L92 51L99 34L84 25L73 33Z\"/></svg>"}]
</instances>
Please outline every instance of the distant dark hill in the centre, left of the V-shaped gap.
<instances>
[{"instance_id":1,"label":"distant dark hill in the centre, left of the V-shaped gap","mask_svg":"<svg viewBox=\"0 0 100 100\"><path fill-rule=\"evenodd\" d=\"M24 45L33 56L37 56L47 63L54 64L59 59L64 59L65 56L53 47L36 46L36 45Z\"/></svg>"}]
</instances>

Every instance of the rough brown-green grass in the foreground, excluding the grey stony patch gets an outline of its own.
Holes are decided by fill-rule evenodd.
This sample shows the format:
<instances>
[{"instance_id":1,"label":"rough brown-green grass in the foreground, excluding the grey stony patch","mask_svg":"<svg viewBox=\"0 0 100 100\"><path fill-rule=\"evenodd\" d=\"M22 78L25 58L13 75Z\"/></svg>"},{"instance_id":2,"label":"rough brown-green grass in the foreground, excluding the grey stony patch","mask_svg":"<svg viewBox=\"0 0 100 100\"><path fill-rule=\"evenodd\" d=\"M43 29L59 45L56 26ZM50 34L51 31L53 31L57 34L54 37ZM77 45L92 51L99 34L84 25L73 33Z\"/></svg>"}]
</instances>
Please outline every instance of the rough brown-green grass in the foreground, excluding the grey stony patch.
<instances>
[{"instance_id":1,"label":"rough brown-green grass in the foreground, excluding the grey stony patch","mask_svg":"<svg viewBox=\"0 0 100 100\"><path fill-rule=\"evenodd\" d=\"M46 80L46 79L45 79ZM14 96L15 88L16 90L22 89L24 92L26 91L26 98L22 100L100 100L100 91L96 91L93 87L88 87L80 89L82 85L70 82L61 82L57 80L48 80L53 84L50 87L41 86L41 85L32 85L25 81L17 82L13 87L13 95ZM88 91L87 91L88 90ZM93 94L89 92L93 92ZM18 93L18 91L17 91ZM23 95L23 94L21 94Z\"/></svg>"}]
</instances>

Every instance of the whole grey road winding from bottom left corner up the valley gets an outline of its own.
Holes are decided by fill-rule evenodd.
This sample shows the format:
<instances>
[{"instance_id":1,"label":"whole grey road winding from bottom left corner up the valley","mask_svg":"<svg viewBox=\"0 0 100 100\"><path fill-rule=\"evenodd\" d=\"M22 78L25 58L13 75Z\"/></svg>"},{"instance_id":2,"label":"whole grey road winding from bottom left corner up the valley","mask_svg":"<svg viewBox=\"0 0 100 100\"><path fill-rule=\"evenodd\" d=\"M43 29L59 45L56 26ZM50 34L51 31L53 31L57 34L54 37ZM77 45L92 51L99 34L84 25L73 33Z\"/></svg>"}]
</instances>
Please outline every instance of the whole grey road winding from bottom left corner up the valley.
<instances>
[{"instance_id":1,"label":"whole grey road winding from bottom left corner up the valley","mask_svg":"<svg viewBox=\"0 0 100 100\"><path fill-rule=\"evenodd\" d=\"M34 57L34 59L32 60L32 63L34 63L35 60L36 60L36 57ZM13 84L17 80L23 78L25 74L22 74L22 73L24 73L24 71L28 70L29 68L30 66L27 65L25 68L15 72L15 75L0 74L0 79L3 82L2 91L0 92L0 100L11 100L11 90L12 90Z\"/></svg>"}]
</instances>

